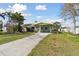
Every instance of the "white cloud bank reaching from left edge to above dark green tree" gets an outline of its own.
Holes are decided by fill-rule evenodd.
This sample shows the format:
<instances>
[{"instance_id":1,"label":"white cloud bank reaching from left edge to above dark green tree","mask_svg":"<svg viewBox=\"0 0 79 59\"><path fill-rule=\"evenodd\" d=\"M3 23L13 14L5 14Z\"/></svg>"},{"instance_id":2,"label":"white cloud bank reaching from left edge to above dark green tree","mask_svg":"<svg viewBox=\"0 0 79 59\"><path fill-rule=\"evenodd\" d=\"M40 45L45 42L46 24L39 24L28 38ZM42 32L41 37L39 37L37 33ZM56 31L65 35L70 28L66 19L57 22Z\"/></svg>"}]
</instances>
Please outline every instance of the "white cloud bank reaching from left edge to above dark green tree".
<instances>
[{"instance_id":1,"label":"white cloud bank reaching from left edge to above dark green tree","mask_svg":"<svg viewBox=\"0 0 79 59\"><path fill-rule=\"evenodd\" d=\"M8 8L6 9L3 9L3 8L0 8L0 13L4 13L5 11L10 11L10 12L23 12L27 10L27 6L24 5L24 4L14 4L13 6L8 6Z\"/></svg>"}]
</instances>

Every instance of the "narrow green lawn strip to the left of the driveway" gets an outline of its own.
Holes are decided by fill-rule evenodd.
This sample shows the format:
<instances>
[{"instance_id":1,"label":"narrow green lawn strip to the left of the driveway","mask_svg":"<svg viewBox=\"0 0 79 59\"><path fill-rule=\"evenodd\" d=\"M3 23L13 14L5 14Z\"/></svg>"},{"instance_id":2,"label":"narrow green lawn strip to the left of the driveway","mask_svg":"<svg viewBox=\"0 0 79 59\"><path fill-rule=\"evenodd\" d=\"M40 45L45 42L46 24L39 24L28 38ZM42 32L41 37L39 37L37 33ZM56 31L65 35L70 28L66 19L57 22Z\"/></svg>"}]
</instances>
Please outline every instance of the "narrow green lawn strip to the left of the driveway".
<instances>
[{"instance_id":1,"label":"narrow green lawn strip to the left of the driveway","mask_svg":"<svg viewBox=\"0 0 79 59\"><path fill-rule=\"evenodd\" d=\"M18 40L18 39L30 36L32 34L34 33L27 32L27 33L18 33L18 34L2 34L0 35L0 45L10 41L14 41L14 40Z\"/></svg>"}]
</instances>

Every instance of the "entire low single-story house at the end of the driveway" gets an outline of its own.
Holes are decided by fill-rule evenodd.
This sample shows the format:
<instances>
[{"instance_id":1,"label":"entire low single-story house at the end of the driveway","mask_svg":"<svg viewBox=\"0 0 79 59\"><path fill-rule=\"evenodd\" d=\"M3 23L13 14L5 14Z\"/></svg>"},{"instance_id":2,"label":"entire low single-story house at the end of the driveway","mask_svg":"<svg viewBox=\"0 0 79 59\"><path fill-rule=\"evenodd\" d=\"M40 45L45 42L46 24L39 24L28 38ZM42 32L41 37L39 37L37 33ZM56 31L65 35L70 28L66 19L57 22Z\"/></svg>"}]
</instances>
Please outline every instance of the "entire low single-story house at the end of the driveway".
<instances>
[{"instance_id":1,"label":"entire low single-story house at the end of the driveway","mask_svg":"<svg viewBox=\"0 0 79 59\"><path fill-rule=\"evenodd\" d=\"M26 24L27 31L52 32L53 26L49 23Z\"/></svg>"}]
</instances>

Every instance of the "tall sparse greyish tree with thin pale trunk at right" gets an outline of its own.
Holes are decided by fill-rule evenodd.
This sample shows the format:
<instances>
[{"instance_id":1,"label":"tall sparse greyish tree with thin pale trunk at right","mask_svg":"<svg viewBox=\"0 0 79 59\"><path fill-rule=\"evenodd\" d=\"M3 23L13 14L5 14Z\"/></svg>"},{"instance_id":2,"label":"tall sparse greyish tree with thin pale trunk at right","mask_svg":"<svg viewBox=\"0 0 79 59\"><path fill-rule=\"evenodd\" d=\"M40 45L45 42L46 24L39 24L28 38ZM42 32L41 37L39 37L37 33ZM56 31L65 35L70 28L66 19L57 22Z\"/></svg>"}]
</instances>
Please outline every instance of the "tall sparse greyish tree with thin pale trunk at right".
<instances>
[{"instance_id":1,"label":"tall sparse greyish tree with thin pale trunk at right","mask_svg":"<svg viewBox=\"0 0 79 59\"><path fill-rule=\"evenodd\" d=\"M73 3L66 3L64 4L64 8L62 10L62 17L67 20L67 19L70 19L72 18L73 20L73 24L74 24L74 34L76 34L76 16L78 16L78 13L75 9L75 5L76 4L73 4Z\"/></svg>"}]
</instances>

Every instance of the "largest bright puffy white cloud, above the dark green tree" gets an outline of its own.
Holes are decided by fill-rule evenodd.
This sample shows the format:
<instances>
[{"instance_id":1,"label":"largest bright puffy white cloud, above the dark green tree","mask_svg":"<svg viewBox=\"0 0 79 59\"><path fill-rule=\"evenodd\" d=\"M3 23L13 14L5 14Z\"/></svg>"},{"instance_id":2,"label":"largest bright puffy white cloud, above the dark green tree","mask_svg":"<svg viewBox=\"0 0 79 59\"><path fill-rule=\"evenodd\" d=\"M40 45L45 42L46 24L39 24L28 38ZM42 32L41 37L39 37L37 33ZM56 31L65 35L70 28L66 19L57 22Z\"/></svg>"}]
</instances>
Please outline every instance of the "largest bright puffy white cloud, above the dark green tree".
<instances>
[{"instance_id":1,"label":"largest bright puffy white cloud, above the dark green tree","mask_svg":"<svg viewBox=\"0 0 79 59\"><path fill-rule=\"evenodd\" d=\"M14 4L13 6L8 6L12 12L23 12L27 9L26 5L23 4Z\"/></svg>"}]
</instances>

